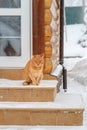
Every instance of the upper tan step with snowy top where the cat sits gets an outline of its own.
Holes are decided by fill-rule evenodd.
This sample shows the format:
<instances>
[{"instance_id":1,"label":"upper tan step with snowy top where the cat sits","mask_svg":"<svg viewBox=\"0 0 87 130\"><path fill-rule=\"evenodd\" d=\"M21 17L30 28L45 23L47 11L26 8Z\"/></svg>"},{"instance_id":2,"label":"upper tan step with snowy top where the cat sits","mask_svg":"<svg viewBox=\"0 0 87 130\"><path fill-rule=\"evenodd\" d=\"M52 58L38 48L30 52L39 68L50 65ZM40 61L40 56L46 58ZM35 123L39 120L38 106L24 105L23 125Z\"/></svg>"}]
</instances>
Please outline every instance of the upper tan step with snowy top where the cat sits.
<instances>
[{"instance_id":1,"label":"upper tan step with snowy top where the cat sits","mask_svg":"<svg viewBox=\"0 0 87 130\"><path fill-rule=\"evenodd\" d=\"M57 80L43 80L39 86L23 86L23 81L0 80L0 101L48 102L54 101Z\"/></svg>"}]
</instances>

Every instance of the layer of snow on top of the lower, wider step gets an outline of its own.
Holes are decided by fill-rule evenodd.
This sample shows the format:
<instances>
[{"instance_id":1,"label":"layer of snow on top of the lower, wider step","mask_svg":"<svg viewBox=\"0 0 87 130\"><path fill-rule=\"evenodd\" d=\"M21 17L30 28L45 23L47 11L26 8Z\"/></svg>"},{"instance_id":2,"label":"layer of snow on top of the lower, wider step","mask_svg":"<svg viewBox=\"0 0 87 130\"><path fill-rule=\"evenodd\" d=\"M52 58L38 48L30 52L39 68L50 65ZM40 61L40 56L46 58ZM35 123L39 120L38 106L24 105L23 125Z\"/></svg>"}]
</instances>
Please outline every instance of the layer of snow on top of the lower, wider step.
<instances>
[{"instance_id":1,"label":"layer of snow on top of the lower, wider step","mask_svg":"<svg viewBox=\"0 0 87 130\"><path fill-rule=\"evenodd\" d=\"M80 94L58 94L56 102L0 102L0 109L84 109Z\"/></svg>"}]
</instances>

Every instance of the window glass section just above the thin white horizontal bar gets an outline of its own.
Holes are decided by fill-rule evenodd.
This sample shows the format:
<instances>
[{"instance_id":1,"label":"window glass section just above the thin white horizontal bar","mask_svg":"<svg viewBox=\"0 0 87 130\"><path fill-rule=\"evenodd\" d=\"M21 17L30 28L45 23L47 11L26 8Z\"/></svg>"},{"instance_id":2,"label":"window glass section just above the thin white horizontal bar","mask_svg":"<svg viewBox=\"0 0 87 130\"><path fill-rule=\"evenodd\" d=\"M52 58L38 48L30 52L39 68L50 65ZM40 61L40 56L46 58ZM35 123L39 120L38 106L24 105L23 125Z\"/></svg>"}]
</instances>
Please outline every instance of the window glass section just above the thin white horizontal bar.
<instances>
[{"instance_id":1,"label":"window glass section just above the thin white horizontal bar","mask_svg":"<svg viewBox=\"0 0 87 130\"><path fill-rule=\"evenodd\" d=\"M0 38L21 37L21 16L0 16Z\"/></svg>"}]
</instances>

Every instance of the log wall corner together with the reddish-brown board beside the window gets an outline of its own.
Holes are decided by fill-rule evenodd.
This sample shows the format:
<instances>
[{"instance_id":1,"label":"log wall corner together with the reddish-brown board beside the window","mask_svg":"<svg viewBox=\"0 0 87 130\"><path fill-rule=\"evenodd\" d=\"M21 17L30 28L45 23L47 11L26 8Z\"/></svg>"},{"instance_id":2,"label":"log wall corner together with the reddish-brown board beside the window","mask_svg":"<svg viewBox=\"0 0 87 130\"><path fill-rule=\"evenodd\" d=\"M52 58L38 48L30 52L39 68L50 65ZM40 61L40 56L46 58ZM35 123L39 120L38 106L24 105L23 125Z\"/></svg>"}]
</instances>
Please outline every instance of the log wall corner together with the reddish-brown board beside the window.
<instances>
[{"instance_id":1,"label":"log wall corner together with the reddish-brown board beside the window","mask_svg":"<svg viewBox=\"0 0 87 130\"><path fill-rule=\"evenodd\" d=\"M33 54L43 52L50 74L60 58L60 0L33 0Z\"/></svg>"}]
</instances>

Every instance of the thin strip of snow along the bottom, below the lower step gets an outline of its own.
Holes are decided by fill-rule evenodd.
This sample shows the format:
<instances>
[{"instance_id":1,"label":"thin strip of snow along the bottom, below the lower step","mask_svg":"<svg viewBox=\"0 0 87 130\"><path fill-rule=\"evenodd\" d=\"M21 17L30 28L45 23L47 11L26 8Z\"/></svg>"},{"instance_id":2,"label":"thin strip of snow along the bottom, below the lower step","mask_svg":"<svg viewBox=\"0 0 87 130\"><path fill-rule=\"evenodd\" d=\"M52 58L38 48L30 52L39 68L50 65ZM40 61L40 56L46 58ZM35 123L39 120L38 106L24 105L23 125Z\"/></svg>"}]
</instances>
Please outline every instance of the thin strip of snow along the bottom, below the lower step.
<instances>
[{"instance_id":1,"label":"thin strip of snow along the bottom, below the lower step","mask_svg":"<svg viewBox=\"0 0 87 130\"><path fill-rule=\"evenodd\" d=\"M87 126L1 126L0 130L87 130Z\"/></svg>"}]
</instances>

